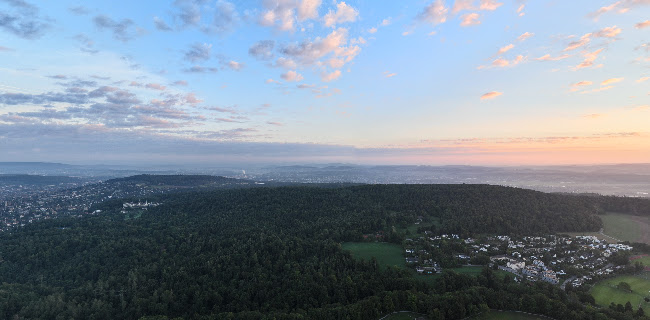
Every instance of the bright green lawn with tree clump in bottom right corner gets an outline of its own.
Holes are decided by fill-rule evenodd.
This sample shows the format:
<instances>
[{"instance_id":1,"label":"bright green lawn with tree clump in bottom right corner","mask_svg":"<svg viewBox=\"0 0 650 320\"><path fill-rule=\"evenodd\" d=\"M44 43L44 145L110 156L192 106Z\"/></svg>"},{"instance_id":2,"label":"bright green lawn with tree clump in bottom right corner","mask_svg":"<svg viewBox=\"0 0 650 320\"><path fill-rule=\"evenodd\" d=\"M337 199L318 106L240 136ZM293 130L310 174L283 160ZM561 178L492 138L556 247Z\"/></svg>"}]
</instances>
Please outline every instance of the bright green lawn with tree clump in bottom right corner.
<instances>
[{"instance_id":1,"label":"bright green lawn with tree clump in bottom right corner","mask_svg":"<svg viewBox=\"0 0 650 320\"><path fill-rule=\"evenodd\" d=\"M620 282L629 283L632 292L617 288ZM650 304L643 301L643 298L650 296L650 277L647 273L635 276L618 276L599 282L591 289L590 293L596 299L596 303L604 307L609 306L612 302L625 305L630 301L634 309L639 306L647 309Z\"/></svg>"}]
</instances>

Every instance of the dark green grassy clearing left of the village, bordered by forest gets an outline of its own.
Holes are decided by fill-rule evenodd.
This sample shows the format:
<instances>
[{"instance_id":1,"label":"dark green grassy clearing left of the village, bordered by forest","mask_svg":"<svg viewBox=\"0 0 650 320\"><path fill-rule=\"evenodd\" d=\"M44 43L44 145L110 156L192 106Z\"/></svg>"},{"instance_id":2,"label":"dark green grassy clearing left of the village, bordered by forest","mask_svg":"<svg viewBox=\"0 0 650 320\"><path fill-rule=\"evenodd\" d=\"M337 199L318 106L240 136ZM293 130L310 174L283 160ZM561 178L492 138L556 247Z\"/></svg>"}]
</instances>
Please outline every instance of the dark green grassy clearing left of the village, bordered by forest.
<instances>
[{"instance_id":1,"label":"dark green grassy clearing left of the village, bordered by forest","mask_svg":"<svg viewBox=\"0 0 650 320\"><path fill-rule=\"evenodd\" d=\"M353 257L370 260L375 257L380 266L406 268L402 247L386 242L345 242L343 250L348 250Z\"/></svg>"}]
</instances>

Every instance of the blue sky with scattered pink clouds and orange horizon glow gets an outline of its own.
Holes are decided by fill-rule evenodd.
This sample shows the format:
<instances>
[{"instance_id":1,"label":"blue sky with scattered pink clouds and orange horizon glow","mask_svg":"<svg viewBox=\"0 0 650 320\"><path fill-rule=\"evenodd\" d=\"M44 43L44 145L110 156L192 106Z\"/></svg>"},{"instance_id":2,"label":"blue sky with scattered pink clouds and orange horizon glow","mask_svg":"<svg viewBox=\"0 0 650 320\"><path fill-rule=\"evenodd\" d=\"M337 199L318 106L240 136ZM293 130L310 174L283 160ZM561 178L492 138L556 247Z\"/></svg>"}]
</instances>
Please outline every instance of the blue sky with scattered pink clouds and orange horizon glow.
<instances>
[{"instance_id":1,"label":"blue sky with scattered pink clouds and orange horizon glow","mask_svg":"<svg viewBox=\"0 0 650 320\"><path fill-rule=\"evenodd\" d=\"M0 0L0 161L650 163L650 0Z\"/></svg>"}]
</instances>

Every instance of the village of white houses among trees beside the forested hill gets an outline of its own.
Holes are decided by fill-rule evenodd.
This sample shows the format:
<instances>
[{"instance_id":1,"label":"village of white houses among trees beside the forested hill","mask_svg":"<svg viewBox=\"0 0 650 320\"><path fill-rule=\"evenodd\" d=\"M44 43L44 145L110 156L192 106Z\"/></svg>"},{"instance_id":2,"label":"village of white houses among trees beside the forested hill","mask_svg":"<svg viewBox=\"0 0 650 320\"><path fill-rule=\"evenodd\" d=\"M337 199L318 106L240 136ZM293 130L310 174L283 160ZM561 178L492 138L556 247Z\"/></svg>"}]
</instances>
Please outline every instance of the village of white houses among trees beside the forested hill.
<instances>
[{"instance_id":1,"label":"village of white houses among trees beside the forested hill","mask_svg":"<svg viewBox=\"0 0 650 320\"><path fill-rule=\"evenodd\" d=\"M407 266L419 274L441 273L446 268L485 266L509 272L515 281L545 281L577 287L593 278L623 268L615 257L631 251L625 244L608 243L595 236L483 236L461 238L457 234L407 238Z\"/></svg>"}]
</instances>

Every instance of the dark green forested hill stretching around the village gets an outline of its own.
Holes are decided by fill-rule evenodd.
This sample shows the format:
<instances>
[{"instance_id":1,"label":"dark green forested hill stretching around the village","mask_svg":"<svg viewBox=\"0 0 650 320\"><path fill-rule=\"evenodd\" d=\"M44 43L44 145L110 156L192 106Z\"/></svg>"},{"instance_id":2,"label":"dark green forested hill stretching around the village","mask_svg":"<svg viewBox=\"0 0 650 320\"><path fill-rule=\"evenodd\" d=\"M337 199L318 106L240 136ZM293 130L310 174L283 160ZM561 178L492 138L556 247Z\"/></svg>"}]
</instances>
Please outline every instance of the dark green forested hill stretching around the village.
<instances>
[{"instance_id":1,"label":"dark green forested hill stretching around the village","mask_svg":"<svg viewBox=\"0 0 650 320\"><path fill-rule=\"evenodd\" d=\"M354 260L339 243L380 231L398 242L399 226L419 216L465 234L600 227L586 198L487 185L245 188L150 200L163 204L136 216L112 201L97 216L0 234L0 318L378 319L406 308L460 319L516 309L523 294L542 289L502 287L489 272L447 274L428 287L407 271ZM568 310L566 295L552 296L549 312Z\"/></svg>"}]
</instances>

